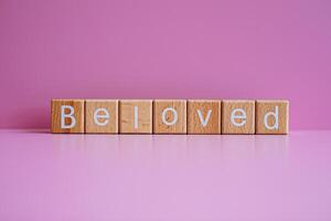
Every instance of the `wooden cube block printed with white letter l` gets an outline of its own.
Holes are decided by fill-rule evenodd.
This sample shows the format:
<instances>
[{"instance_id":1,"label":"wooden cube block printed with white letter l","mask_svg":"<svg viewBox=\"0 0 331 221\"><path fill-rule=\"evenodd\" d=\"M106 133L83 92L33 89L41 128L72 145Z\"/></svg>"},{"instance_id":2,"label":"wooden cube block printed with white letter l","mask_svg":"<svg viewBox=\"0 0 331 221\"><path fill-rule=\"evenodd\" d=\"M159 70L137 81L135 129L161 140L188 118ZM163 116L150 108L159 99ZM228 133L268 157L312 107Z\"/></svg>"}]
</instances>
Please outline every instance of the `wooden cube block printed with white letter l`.
<instances>
[{"instance_id":1,"label":"wooden cube block printed with white letter l","mask_svg":"<svg viewBox=\"0 0 331 221\"><path fill-rule=\"evenodd\" d=\"M152 101L127 99L119 101L119 133L151 134Z\"/></svg>"}]
</instances>

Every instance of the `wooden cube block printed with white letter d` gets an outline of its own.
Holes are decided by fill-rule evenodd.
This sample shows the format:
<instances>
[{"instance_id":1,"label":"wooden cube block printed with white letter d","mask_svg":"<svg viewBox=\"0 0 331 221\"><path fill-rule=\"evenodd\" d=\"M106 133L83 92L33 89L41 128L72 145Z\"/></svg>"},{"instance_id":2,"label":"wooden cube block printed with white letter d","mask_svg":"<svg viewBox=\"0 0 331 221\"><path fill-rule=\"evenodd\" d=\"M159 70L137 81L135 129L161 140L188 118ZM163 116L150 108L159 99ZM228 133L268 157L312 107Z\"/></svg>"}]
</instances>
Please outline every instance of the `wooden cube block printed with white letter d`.
<instances>
[{"instance_id":1,"label":"wooden cube block printed with white letter d","mask_svg":"<svg viewBox=\"0 0 331 221\"><path fill-rule=\"evenodd\" d=\"M256 134L288 134L288 101L256 101Z\"/></svg>"}]
</instances>

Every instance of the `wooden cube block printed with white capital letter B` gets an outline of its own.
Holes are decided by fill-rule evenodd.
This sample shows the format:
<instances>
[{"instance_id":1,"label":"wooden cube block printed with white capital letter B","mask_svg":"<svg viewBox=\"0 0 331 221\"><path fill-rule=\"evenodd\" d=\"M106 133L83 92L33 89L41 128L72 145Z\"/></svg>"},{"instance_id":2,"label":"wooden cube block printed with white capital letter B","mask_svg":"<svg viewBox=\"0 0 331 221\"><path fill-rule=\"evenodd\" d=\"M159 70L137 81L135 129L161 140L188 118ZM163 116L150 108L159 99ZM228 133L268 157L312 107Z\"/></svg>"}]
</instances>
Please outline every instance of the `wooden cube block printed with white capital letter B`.
<instances>
[{"instance_id":1,"label":"wooden cube block printed with white capital letter B","mask_svg":"<svg viewBox=\"0 0 331 221\"><path fill-rule=\"evenodd\" d=\"M84 133L84 99L51 101L52 133Z\"/></svg>"}]
</instances>

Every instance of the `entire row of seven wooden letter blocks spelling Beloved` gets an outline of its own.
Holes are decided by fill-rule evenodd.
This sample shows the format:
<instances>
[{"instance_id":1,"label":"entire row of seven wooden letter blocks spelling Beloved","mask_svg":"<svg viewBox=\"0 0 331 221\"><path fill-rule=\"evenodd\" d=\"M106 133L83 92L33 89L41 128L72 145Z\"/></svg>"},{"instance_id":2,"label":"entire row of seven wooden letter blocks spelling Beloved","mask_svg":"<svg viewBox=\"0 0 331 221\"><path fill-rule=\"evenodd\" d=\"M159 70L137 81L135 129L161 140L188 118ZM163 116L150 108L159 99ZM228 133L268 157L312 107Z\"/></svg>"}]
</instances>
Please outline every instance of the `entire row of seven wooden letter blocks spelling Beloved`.
<instances>
[{"instance_id":1,"label":"entire row of seven wooden letter blocks spelling Beloved","mask_svg":"<svg viewBox=\"0 0 331 221\"><path fill-rule=\"evenodd\" d=\"M288 101L52 99L52 133L288 134Z\"/></svg>"}]
</instances>

